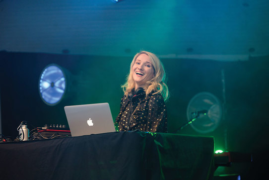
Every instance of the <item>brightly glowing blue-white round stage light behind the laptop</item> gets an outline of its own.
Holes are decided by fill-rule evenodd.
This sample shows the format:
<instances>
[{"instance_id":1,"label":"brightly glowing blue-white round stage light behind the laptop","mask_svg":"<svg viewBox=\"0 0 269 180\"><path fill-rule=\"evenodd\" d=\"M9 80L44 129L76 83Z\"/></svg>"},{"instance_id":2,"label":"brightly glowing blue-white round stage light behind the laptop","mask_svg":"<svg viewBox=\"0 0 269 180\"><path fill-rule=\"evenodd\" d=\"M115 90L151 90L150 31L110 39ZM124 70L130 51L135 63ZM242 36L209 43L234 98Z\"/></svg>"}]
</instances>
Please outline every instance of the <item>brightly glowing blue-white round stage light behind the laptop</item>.
<instances>
[{"instance_id":1,"label":"brightly glowing blue-white round stage light behind the laptop","mask_svg":"<svg viewBox=\"0 0 269 180\"><path fill-rule=\"evenodd\" d=\"M59 103L66 91L66 77L62 69L56 65L48 65L39 78L39 94L48 105Z\"/></svg>"}]
</instances>

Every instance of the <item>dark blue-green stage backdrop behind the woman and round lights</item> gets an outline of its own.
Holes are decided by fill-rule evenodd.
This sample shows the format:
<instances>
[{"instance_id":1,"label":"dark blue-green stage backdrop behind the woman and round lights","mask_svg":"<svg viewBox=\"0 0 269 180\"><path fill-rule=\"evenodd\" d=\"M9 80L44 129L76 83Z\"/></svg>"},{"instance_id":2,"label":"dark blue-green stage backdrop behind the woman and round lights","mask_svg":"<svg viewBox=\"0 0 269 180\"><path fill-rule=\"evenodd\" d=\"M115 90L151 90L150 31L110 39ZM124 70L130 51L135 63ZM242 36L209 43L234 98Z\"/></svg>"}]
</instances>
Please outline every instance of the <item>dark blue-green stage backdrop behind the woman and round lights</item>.
<instances>
[{"instance_id":1,"label":"dark blue-green stage backdrop behind the woman and round lights","mask_svg":"<svg viewBox=\"0 0 269 180\"><path fill-rule=\"evenodd\" d=\"M2 133L15 138L22 120L29 129L44 124L66 124L64 106L108 102L113 119L133 57L57 55L43 53L0 52L0 95ZM202 91L213 93L223 102L221 70L225 74L225 119L219 127L201 134L186 127L182 134L214 136L215 148L240 152L268 150L269 57L250 57L249 61L220 62L194 59L161 59L170 90L167 101L168 131L187 121L187 105ZM38 80L42 70L55 63L67 75L63 100L48 106L40 98Z\"/></svg>"}]
</instances>

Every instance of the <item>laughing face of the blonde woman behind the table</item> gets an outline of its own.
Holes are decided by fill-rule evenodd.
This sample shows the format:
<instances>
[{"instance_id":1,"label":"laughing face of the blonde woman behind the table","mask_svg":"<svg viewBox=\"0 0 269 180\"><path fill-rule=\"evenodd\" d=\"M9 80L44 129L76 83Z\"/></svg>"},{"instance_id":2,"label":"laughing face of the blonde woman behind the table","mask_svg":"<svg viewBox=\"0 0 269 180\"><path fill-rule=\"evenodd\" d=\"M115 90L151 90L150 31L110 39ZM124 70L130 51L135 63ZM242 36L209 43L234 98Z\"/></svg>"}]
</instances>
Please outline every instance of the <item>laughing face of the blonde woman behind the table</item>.
<instances>
[{"instance_id":1,"label":"laughing face of the blonde woman behind the table","mask_svg":"<svg viewBox=\"0 0 269 180\"><path fill-rule=\"evenodd\" d=\"M147 81L154 77L154 68L146 54L140 54L132 67L133 79L135 81L135 89L143 88Z\"/></svg>"}]
</instances>

